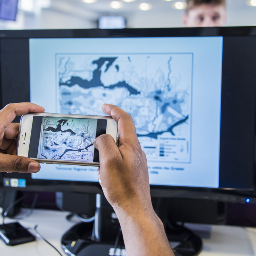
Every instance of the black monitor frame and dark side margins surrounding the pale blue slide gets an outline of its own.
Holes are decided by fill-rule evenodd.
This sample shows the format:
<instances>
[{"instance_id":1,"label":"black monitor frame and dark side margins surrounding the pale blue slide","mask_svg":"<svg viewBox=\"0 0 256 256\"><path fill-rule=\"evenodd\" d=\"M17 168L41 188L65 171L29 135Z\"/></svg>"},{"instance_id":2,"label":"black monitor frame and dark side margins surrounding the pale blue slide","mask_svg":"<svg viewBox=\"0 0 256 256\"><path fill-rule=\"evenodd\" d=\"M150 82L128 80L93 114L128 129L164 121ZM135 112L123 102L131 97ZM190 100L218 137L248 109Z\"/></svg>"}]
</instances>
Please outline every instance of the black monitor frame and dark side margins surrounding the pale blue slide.
<instances>
[{"instance_id":1,"label":"black monitor frame and dark side margins surrounding the pale blue slide","mask_svg":"<svg viewBox=\"0 0 256 256\"><path fill-rule=\"evenodd\" d=\"M256 27L2 30L0 32L1 108L8 103L30 101L30 77L27 72L29 38L203 36L223 37L219 188L151 185L151 195L223 202L246 202L246 199L250 198L251 202L256 202L254 198L256 195L254 156ZM102 193L98 182L32 180L27 178L30 174L22 173L11 173L8 176L2 173L0 189L12 189L2 187L3 177L24 178L24 175L26 175L27 187L19 190Z\"/></svg>"}]
</instances>

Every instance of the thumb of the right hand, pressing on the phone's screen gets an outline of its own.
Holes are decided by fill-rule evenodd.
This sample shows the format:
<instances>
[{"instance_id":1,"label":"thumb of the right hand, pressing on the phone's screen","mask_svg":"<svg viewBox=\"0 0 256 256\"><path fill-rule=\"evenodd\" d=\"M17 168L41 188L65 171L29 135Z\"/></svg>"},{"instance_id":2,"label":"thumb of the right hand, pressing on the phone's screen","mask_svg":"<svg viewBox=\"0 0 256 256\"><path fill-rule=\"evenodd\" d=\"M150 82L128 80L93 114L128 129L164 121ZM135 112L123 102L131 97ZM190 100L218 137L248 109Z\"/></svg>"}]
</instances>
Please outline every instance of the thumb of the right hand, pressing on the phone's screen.
<instances>
[{"instance_id":1,"label":"thumb of the right hand, pressing on the phone's screen","mask_svg":"<svg viewBox=\"0 0 256 256\"><path fill-rule=\"evenodd\" d=\"M109 134L102 134L94 140L94 146L99 150L99 163L100 165L112 164L112 159L120 158L120 151L117 144Z\"/></svg>"}]
</instances>

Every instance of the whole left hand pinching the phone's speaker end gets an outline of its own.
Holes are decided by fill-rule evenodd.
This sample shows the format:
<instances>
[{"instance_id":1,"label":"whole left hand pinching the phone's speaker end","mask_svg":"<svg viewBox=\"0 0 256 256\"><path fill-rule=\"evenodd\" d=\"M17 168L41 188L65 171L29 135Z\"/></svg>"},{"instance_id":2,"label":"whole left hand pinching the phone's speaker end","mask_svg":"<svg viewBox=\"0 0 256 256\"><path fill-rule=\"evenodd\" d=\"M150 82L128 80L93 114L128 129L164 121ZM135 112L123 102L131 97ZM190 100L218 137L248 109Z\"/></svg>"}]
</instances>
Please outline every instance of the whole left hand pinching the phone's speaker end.
<instances>
[{"instance_id":1,"label":"whole left hand pinching the phone's speaker end","mask_svg":"<svg viewBox=\"0 0 256 256\"><path fill-rule=\"evenodd\" d=\"M38 162L16 155L19 124L11 123L16 116L32 112L43 113L44 108L28 102L11 103L0 110L0 172L35 173L40 170Z\"/></svg>"}]
</instances>

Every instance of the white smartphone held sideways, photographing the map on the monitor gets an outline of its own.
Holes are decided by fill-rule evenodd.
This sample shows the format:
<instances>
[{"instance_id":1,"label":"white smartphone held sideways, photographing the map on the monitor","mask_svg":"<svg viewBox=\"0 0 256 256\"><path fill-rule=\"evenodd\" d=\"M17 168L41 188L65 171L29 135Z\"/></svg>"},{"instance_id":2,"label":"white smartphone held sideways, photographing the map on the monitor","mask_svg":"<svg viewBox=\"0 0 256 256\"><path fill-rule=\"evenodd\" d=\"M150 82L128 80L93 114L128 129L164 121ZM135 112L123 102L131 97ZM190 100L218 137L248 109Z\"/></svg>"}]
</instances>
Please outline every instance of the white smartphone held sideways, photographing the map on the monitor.
<instances>
[{"instance_id":1,"label":"white smartphone held sideways, photographing the map on the monitor","mask_svg":"<svg viewBox=\"0 0 256 256\"><path fill-rule=\"evenodd\" d=\"M118 144L117 122L112 117L26 114L20 119L17 155L39 163L99 166L93 142L104 133Z\"/></svg>"}]
</instances>

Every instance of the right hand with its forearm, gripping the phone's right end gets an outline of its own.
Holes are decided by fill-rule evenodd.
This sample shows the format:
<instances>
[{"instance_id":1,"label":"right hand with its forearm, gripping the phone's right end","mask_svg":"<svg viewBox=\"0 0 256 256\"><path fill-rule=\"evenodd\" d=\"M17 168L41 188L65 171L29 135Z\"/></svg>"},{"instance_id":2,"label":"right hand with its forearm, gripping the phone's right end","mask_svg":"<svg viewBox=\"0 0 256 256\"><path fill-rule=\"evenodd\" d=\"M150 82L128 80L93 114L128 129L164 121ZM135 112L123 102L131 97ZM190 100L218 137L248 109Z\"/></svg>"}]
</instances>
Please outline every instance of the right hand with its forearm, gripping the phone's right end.
<instances>
[{"instance_id":1,"label":"right hand with its forearm, gripping the phone's right end","mask_svg":"<svg viewBox=\"0 0 256 256\"><path fill-rule=\"evenodd\" d=\"M146 155L132 117L114 105L104 104L102 110L117 121L120 146L109 134L94 140L99 150L98 174L121 225L127 256L174 256L151 203Z\"/></svg>"}]
</instances>

